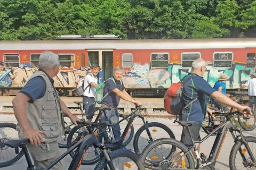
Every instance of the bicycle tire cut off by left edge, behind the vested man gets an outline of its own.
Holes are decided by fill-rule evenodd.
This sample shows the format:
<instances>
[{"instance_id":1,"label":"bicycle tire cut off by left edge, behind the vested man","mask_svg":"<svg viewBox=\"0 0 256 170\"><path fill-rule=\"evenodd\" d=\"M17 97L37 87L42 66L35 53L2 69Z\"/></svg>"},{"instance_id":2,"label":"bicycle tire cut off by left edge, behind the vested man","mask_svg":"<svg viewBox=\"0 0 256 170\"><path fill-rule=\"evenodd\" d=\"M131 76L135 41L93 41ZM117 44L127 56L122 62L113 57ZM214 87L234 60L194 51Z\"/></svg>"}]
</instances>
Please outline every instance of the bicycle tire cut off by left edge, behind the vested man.
<instances>
[{"instance_id":1,"label":"bicycle tire cut off by left edge, behind the vested man","mask_svg":"<svg viewBox=\"0 0 256 170\"><path fill-rule=\"evenodd\" d=\"M16 124L14 123L0 123L0 128L12 128L16 130ZM6 139L6 138L5 138ZM0 140L3 140L0 139ZM1 148L0 148L1 150ZM7 162L0 162L0 167L6 167L6 166L10 166L12 164L14 164L15 162L17 162L18 160L20 160L20 158L24 155L24 151L23 149L20 150L19 154L17 156L15 156L14 158L12 158L11 160L8 160Z\"/></svg>"}]
</instances>

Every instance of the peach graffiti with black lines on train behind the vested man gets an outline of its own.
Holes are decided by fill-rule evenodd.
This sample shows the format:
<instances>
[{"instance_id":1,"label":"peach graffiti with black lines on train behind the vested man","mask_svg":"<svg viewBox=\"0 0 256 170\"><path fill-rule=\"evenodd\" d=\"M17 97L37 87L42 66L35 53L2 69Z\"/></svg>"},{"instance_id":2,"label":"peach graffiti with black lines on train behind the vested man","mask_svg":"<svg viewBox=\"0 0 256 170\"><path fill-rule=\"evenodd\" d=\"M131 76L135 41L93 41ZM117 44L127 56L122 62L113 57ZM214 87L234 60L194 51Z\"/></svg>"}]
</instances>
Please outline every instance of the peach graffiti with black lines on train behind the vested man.
<instances>
[{"instance_id":1,"label":"peach graffiti with black lines on train behind the vested man","mask_svg":"<svg viewBox=\"0 0 256 170\"><path fill-rule=\"evenodd\" d=\"M33 67L11 67L4 68L0 64L0 87L23 87L38 70ZM56 77L53 78L55 87L76 87L76 82L85 77L88 70L86 67L78 69L61 68Z\"/></svg>"}]
</instances>

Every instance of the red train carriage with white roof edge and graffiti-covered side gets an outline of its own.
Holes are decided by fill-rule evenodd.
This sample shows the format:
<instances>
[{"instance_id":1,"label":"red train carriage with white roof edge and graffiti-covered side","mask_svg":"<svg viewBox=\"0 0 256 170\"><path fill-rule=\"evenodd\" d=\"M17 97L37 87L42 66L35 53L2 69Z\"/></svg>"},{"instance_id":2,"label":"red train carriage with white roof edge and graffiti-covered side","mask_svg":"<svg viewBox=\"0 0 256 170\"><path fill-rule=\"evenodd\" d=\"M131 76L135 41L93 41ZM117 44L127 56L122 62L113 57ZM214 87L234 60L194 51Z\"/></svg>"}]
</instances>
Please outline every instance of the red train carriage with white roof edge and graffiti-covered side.
<instances>
[{"instance_id":1,"label":"red train carriage with white roof edge and graffiti-covered side","mask_svg":"<svg viewBox=\"0 0 256 170\"><path fill-rule=\"evenodd\" d=\"M45 50L59 55L62 69L54 85L62 95L75 96L76 82L87 72L84 67L98 63L100 82L121 65L123 82L133 96L162 97L171 83L190 72L197 58L209 62L204 79L212 86L225 72L230 76L227 89L240 88L255 72L256 38L0 41L2 95L15 95L25 86Z\"/></svg>"}]
</instances>

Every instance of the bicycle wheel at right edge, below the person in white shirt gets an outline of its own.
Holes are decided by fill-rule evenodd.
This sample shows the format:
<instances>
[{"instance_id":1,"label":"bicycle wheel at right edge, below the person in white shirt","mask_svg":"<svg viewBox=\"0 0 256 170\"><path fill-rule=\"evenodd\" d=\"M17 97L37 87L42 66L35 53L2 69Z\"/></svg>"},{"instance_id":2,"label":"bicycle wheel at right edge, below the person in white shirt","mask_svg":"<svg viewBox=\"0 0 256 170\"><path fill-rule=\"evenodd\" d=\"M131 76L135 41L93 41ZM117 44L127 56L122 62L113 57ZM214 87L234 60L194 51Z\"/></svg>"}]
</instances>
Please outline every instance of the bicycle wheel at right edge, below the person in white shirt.
<instances>
[{"instance_id":1,"label":"bicycle wheel at right edge, below the person in white shirt","mask_svg":"<svg viewBox=\"0 0 256 170\"><path fill-rule=\"evenodd\" d=\"M241 126L241 128L245 131L252 131L256 126L256 113L252 110L253 116L249 116L247 114L244 114L243 116L238 115L238 123Z\"/></svg>"}]
</instances>

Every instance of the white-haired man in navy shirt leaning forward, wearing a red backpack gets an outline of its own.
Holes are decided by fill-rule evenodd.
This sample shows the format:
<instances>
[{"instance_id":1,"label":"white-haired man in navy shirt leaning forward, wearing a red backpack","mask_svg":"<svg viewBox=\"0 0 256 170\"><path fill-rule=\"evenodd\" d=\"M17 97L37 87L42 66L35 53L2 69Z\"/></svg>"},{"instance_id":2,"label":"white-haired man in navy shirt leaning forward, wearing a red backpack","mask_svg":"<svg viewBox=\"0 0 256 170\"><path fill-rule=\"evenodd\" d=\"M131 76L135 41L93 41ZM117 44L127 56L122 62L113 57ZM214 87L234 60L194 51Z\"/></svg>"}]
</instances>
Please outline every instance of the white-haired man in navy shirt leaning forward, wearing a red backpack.
<instances>
[{"instance_id":1,"label":"white-haired man in navy shirt leaning forward, wearing a red backpack","mask_svg":"<svg viewBox=\"0 0 256 170\"><path fill-rule=\"evenodd\" d=\"M197 141L201 140L199 130L205 118L206 112L212 114L212 111L207 108L207 96L211 96L213 99L222 104L234 107L238 109L239 112L244 114L246 113L245 109L249 108L247 106L237 104L226 95L223 95L221 92L213 89L210 84L203 79L206 66L207 63L203 59L199 58L195 60L192 63L191 73L188 73L188 75L183 78L183 81L186 81L190 77L190 80L184 84L182 93L184 106L187 106L189 103L190 105L186 107L185 113L179 115L179 120L196 122L190 126L189 129L193 139ZM181 142L184 143L187 147L193 146L193 143L190 140L188 129L182 130ZM196 143L196 147L199 151L199 143Z\"/></svg>"}]
</instances>

